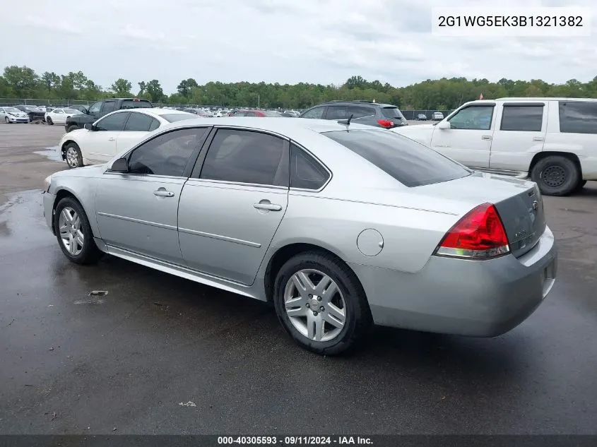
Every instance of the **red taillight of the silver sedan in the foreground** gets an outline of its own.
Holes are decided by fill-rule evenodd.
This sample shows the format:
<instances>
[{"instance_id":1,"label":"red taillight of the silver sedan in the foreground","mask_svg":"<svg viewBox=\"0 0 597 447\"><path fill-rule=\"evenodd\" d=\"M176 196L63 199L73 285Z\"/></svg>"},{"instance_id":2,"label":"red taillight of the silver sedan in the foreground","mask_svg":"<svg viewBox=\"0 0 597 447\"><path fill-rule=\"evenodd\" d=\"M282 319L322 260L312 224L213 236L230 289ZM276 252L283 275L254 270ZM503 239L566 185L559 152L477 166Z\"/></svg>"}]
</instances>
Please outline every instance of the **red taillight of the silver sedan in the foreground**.
<instances>
[{"instance_id":1,"label":"red taillight of the silver sedan in the foreground","mask_svg":"<svg viewBox=\"0 0 597 447\"><path fill-rule=\"evenodd\" d=\"M491 203L469 211L444 236L435 254L459 258L493 258L510 251L500 215Z\"/></svg>"}]
</instances>

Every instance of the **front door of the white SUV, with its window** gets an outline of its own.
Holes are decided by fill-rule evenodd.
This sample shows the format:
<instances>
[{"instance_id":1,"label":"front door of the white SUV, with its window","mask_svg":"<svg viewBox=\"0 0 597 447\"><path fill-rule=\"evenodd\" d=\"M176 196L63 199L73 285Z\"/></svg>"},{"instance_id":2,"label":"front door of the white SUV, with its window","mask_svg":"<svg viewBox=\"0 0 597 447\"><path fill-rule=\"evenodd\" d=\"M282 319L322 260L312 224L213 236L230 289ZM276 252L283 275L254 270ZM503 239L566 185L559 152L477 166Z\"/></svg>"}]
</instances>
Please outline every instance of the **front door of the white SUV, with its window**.
<instances>
[{"instance_id":1,"label":"front door of the white SUV, with its window","mask_svg":"<svg viewBox=\"0 0 597 447\"><path fill-rule=\"evenodd\" d=\"M433 131L431 147L468 167L489 167L494 105L471 105L449 118L450 129Z\"/></svg>"}]
</instances>

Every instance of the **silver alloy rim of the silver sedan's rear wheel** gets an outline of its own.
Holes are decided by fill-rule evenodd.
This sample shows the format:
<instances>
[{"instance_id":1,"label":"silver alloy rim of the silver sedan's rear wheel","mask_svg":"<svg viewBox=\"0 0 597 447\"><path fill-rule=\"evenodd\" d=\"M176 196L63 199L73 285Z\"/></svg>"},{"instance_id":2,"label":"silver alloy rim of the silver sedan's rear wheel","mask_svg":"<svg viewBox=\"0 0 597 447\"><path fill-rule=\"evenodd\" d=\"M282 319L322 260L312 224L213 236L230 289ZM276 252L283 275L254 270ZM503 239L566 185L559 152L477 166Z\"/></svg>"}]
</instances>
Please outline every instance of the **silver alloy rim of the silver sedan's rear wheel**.
<instances>
[{"instance_id":1,"label":"silver alloy rim of the silver sedan's rear wheel","mask_svg":"<svg viewBox=\"0 0 597 447\"><path fill-rule=\"evenodd\" d=\"M340 288L319 270L304 269L292 275L284 290L284 308L292 326L318 342L338 337L346 321Z\"/></svg>"}]
</instances>

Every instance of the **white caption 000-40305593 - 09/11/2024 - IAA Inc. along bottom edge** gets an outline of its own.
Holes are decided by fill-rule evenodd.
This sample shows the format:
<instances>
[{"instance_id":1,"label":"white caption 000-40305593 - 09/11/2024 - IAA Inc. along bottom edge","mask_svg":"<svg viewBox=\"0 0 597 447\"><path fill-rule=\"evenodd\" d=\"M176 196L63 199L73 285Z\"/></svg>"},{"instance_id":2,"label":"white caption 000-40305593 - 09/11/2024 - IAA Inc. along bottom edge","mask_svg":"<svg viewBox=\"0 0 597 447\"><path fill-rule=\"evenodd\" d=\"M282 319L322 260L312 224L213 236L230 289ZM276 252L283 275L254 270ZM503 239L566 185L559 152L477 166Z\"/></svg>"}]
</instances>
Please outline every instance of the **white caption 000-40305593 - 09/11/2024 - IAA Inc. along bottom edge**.
<instances>
[{"instance_id":1,"label":"white caption 000-40305593 - 09/11/2024 - IAA Inc. along bottom edge","mask_svg":"<svg viewBox=\"0 0 597 447\"><path fill-rule=\"evenodd\" d=\"M367 436L218 436L218 445L245 446L315 446L315 445L368 445L373 441Z\"/></svg>"}]
</instances>

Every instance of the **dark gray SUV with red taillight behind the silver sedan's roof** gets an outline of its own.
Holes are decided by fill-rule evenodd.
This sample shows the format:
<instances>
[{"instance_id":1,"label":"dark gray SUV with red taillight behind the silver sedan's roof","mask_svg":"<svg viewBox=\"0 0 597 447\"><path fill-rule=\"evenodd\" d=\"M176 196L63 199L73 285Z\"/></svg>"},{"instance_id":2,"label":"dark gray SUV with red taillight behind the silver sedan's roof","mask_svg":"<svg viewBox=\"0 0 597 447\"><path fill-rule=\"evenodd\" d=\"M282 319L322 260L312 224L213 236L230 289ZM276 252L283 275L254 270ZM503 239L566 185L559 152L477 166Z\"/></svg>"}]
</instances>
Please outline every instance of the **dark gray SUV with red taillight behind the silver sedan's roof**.
<instances>
[{"instance_id":1,"label":"dark gray SUV with red taillight behind the silver sedan's roof","mask_svg":"<svg viewBox=\"0 0 597 447\"><path fill-rule=\"evenodd\" d=\"M406 126L408 122L398 107L391 104L379 104L371 101L331 101L316 105L302 112L299 118L311 119L348 119L370 126L393 127Z\"/></svg>"}]
</instances>

